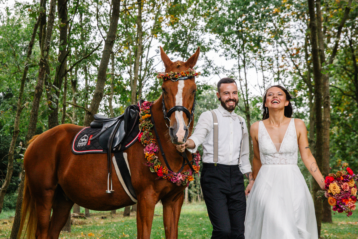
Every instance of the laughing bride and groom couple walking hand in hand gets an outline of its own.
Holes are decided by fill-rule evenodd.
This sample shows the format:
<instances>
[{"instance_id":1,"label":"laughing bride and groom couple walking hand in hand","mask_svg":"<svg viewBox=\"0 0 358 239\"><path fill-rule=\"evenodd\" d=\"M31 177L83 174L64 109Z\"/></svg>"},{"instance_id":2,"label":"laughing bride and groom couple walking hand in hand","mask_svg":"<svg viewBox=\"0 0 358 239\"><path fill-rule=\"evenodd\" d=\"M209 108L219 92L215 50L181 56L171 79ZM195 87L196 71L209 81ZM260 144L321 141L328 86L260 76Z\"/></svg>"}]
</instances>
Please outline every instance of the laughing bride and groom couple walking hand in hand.
<instances>
[{"instance_id":1,"label":"laughing bride and groom couple walking hand in hand","mask_svg":"<svg viewBox=\"0 0 358 239\"><path fill-rule=\"evenodd\" d=\"M318 238L311 193L297 167L298 149L323 190L324 178L310 151L304 122L291 118L292 96L279 85L265 91L262 120L250 127L251 169L247 126L234 113L236 82L222 78L217 87L219 107L202 113L187 142L177 145L180 152L195 153L203 144L200 184L213 225L211 238ZM249 180L246 190L243 175Z\"/></svg>"}]
</instances>

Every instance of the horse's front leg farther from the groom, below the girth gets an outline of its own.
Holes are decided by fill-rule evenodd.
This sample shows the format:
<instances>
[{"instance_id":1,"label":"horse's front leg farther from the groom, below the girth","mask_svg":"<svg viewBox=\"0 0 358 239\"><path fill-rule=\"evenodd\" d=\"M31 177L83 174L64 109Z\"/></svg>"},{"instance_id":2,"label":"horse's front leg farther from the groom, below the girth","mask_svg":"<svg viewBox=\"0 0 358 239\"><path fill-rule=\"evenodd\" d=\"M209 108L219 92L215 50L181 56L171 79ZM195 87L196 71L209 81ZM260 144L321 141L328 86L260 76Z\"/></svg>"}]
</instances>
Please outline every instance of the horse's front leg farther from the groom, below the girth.
<instances>
[{"instance_id":1,"label":"horse's front leg farther from the groom, below the girth","mask_svg":"<svg viewBox=\"0 0 358 239\"><path fill-rule=\"evenodd\" d=\"M149 239L156 201L153 200L154 197L148 196L151 195L150 192L143 192L142 195L146 196L138 196L137 239Z\"/></svg>"}]
</instances>

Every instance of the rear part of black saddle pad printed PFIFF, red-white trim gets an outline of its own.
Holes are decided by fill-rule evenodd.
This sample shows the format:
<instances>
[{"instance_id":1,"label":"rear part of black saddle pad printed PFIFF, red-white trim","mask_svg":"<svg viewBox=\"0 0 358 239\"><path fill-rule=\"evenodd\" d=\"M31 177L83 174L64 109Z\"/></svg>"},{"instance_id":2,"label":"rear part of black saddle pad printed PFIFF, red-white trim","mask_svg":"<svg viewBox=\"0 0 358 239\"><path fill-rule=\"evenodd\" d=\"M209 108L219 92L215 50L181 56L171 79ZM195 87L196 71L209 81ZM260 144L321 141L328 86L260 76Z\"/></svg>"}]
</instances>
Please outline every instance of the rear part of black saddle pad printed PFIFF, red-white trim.
<instances>
[{"instance_id":1,"label":"rear part of black saddle pad printed PFIFF, red-white trim","mask_svg":"<svg viewBox=\"0 0 358 239\"><path fill-rule=\"evenodd\" d=\"M95 137L100 132L101 129L93 129L91 127L83 128L73 139L71 147L72 153L107 153L107 150L103 149L98 142L98 137L91 140L91 138Z\"/></svg>"}]
</instances>

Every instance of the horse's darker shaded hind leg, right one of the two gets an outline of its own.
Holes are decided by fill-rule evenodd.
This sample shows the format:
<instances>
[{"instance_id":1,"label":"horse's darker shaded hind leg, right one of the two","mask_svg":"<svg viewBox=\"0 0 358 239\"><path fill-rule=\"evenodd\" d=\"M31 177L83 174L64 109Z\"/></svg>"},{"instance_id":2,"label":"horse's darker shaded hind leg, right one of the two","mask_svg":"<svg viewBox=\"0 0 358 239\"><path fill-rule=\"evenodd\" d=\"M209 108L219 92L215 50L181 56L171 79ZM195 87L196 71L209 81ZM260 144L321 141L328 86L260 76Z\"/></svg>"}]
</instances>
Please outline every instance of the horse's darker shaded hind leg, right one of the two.
<instances>
[{"instance_id":1,"label":"horse's darker shaded hind leg, right one of the two","mask_svg":"<svg viewBox=\"0 0 358 239\"><path fill-rule=\"evenodd\" d=\"M55 199L52 205L52 216L50 219L49 238L58 239L62 228L67 222L74 202L68 199L61 186L56 190Z\"/></svg>"}]
</instances>

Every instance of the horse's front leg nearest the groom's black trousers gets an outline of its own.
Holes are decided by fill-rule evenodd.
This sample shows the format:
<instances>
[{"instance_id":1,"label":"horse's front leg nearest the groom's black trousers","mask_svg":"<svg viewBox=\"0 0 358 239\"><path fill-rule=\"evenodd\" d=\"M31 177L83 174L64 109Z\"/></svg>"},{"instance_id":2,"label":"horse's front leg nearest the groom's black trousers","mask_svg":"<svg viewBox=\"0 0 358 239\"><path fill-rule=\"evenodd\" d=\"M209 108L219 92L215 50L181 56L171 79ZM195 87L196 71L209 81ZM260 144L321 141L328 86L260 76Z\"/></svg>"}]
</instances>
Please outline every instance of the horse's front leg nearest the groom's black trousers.
<instances>
[{"instance_id":1,"label":"horse's front leg nearest the groom's black trousers","mask_svg":"<svg viewBox=\"0 0 358 239\"><path fill-rule=\"evenodd\" d=\"M161 200L163 204L163 221L166 239L178 238L178 223L183 201L183 192L178 193L174 197Z\"/></svg>"}]
</instances>

